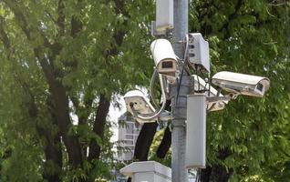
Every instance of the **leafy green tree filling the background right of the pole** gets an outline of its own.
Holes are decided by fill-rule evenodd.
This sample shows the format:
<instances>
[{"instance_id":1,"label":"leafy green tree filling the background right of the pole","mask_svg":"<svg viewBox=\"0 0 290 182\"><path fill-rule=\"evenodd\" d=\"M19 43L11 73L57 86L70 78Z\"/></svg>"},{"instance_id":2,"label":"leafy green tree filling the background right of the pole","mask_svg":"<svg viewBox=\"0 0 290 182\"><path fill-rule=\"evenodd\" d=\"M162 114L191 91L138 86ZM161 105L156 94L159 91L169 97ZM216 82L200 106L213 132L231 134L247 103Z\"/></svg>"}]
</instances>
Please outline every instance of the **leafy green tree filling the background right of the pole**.
<instances>
[{"instance_id":1,"label":"leafy green tree filling the background right of the pole","mask_svg":"<svg viewBox=\"0 0 290 182\"><path fill-rule=\"evenodd\" d=\"M201 180L287 180L289 3L194 1L190 6L190 32L209 41L213 74L229 70L271 79L264 98L239 96L208 115L208 165Z\"/></svg>"}]
</instances>

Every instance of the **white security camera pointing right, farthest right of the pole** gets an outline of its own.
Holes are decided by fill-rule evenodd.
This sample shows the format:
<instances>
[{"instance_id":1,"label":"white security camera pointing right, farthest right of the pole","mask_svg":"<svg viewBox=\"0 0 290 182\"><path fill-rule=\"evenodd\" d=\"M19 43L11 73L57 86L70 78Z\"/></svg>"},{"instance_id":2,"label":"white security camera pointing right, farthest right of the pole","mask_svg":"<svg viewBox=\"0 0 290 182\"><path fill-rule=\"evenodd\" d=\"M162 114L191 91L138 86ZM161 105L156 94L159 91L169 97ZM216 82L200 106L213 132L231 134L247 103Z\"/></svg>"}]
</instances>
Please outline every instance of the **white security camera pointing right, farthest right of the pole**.
<instances>
[{"instance_id":1,"label":"white security camera pointing right, farthest right of the pole","mask_svg":"<svg viewBox=\"0 0 290 182\"><path fill-rule=\"evenodd\" d=\"M222 71L212 76L212 84L220 86L233 95L264 96L270 80L261 76L250 76Z\"/></svg>"}]
</instances>

